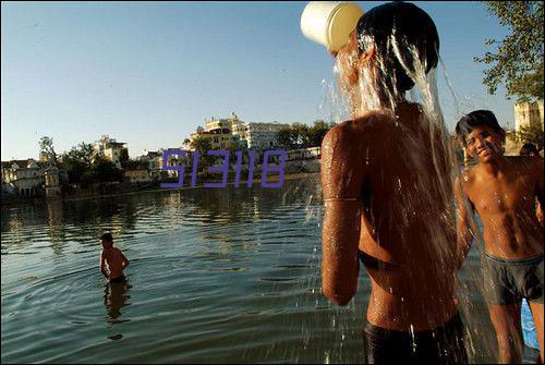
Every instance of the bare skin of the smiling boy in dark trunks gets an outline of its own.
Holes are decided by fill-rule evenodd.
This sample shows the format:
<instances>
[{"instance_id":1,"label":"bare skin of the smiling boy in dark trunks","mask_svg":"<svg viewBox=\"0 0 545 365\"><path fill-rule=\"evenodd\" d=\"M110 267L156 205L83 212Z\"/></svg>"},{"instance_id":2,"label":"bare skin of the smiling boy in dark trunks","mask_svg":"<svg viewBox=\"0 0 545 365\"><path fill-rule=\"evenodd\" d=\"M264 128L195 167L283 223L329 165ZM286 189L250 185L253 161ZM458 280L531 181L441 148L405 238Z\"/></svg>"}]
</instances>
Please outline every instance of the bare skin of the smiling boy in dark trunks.
<instances>
[{"instance_id":1,"label":"bare skin of the smiling boy in dark trunks","mask_svg":"<svg viewBox=\"0 0 545 365\"><path fill-rule=\"evenodd\" d=\"M543 255L543 221L535 200L543 206L543 160L535 157L506 157L505 134L487 125L476 126L467 137L467 150L479 163L464 171L457 190L459 204L458 241L465 257L473 242L463 197L483 221L485 250L506 259ZM458 184L457 184L458 186ZM541 209L541 208L538 208ZM499 344L499 362L521 361L520 306L488 305ZM543 361L543 304L530 302Z\"/></svg>"}]
</instances>

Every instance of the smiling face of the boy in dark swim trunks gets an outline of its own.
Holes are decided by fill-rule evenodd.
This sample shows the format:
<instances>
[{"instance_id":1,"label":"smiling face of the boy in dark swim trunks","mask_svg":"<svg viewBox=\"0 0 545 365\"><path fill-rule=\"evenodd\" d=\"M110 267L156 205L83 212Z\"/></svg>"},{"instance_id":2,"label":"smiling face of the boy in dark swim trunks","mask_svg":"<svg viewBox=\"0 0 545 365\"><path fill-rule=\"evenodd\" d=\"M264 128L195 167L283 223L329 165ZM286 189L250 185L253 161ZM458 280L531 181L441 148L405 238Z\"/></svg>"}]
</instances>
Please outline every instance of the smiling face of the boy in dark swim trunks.
<instances>
[{"instance_id":1,"label":"smiling face of the boy in dark swim trunks","mask_svg":"<svg viewBox=\"0 0 545 365\"><path fill-rule=\"evenodd\" d=\"M479 161L486 163L502 156L505 132L496 131L488 125L477 125L465 136L465 149L471 157L477 156Z\"/></svg>"}]
</instances>

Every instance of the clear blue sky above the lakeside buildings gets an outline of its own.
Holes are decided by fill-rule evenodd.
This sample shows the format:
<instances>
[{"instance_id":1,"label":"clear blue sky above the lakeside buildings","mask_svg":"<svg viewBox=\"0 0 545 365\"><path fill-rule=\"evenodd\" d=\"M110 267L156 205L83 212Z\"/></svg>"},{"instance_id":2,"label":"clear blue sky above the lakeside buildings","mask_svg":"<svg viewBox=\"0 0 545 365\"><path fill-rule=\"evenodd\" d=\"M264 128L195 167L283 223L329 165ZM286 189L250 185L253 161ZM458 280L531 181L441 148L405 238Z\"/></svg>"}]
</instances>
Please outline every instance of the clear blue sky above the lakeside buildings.
<instances>
[{"instance_id":1,"label":"clear blue sky above the lakeside buildings","mask_svg":"<svg viewBox=\"0 0 545 365\"><path fill-rule=\"evenodd\" d=\"M359 1L364 11L383 2ZM435 21L460 109L513 124L505 89L487 95L473 61L507 29L480 2L415 2ZM312 123L332 58L303 37L306 2L2 2L1 158L36 158L109 134L177 147L205 119ZM439 80L449 130L455 99Z\"/></svg>"}]
</instances>

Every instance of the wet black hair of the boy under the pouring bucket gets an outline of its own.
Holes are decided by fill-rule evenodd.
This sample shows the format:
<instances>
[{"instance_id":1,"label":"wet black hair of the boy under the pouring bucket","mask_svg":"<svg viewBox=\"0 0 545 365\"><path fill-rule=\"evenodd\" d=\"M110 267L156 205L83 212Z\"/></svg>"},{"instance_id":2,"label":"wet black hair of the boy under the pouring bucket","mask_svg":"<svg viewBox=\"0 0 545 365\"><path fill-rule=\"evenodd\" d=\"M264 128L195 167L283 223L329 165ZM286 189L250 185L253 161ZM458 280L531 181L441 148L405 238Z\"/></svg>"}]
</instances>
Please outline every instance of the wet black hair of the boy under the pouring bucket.
<instances>
[{"instance_id":1,"label":"wet black hair of the boy under the pouring bucket","mask_svg":"<svg viewBox=\"0 0 545 365\"><path fill-rule=\"evenodd\" d=\"M359 53L375 47L375 54L382 63L380 76L386 87L391 90L403 93L414 86L414 81L407 74L402 64L409 68L411 73L415 73L415 65L421 63L426 74L437 66L437 28L432 17L415 4L389 2L375 7L362 15L356 32ZM396 52L396 46L399 52ZM412 52L413 47L416 54Z\"/></svg>"}]
</instances>

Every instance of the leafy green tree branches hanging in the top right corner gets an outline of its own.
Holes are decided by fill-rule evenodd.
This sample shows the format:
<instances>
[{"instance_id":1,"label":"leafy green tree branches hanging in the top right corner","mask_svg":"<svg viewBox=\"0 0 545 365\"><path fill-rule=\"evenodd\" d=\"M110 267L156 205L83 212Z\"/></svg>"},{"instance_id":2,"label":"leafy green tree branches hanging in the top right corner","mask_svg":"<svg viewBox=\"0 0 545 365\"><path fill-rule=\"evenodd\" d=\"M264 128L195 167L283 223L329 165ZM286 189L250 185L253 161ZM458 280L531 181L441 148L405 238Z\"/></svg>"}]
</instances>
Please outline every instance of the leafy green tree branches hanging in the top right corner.
<instances>
[{"instance_id":1,"label":"leafy green tree branches hanging in the top right corner","mask_svg":"<svg viewBox=\"0 0 545 365\"><path fill-rule=\"evenodd\" d=\"M517 96L519 101L543 99L543 2L484 1L484 5L510 31L501 40L486 40L486 45L497 46L496 52L474 58L491 66L483 78L488 93L495 94L505 83L508 97Z\"/></svg>"}]
</instances>

